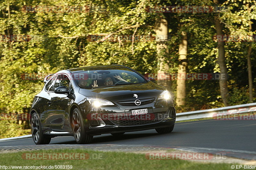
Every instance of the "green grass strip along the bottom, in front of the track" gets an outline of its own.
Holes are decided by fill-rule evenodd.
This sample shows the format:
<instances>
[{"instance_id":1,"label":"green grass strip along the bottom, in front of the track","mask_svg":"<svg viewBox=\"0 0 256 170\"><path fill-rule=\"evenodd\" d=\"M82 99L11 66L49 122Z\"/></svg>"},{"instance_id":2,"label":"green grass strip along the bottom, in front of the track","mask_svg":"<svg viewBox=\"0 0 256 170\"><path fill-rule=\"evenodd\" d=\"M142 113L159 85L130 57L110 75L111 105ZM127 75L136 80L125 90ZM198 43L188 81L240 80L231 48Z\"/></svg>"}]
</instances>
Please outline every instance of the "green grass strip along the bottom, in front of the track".
<instances>
[{"instance_id":1,"label":"green grass strip along the bottom, in front of the track","mask_svg":"<svg viewBox=\"0 0 256 170\"><path fill-rule=\"evenodd\" d=\"M22 158L23 153L88 153L102 154L102 159L85 160L27 160ZM187 160L148 160L145 154L125 153L125 152L97 152L84 149L58 149L58 150L38 150L15 153L2 153L0 165L5 166L49 166L49 165L72 165L72 170L220 170L231 169L234 164L226 163L199 163Z\"/></svg>"}]
</instances>

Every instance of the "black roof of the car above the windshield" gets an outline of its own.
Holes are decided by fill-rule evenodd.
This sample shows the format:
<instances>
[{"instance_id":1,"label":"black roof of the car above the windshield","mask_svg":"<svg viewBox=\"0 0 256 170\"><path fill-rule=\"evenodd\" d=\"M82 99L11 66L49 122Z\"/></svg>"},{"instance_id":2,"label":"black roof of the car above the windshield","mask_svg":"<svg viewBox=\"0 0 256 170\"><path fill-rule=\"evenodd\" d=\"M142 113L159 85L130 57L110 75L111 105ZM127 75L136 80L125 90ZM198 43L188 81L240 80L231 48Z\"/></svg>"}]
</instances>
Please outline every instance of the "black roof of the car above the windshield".
<instances>
[{"instance_id":1,"label":"black roof of the car above the windshield","mask_svg":"<svg viewBox=\"0 0 256 170\"><path fill-rule=\"evenodd\" d=\"M80 72L80 71L87 71L87 70L110 70L110 69L127 69L127 67L123 65L98 65L98 66L87 66L87 67L79 67L74 69L68 69L72 73Z\"/></svg>"}]
</instances>

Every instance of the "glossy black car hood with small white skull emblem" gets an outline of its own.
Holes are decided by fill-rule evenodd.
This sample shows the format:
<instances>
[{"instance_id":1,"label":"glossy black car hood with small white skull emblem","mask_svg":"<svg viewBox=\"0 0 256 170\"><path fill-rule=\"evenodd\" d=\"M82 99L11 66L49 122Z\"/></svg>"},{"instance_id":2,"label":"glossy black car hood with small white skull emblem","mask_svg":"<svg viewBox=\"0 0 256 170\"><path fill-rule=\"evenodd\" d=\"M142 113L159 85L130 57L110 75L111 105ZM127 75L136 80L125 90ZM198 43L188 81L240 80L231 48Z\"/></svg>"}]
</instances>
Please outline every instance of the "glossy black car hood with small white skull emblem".
<instances>
[{"instance_id":1,"label":"glossy black car hood with small white skull emblem","mask_svg":"<svg viewBox=\"0 0 256 170\"><path fill-rule=\"evenodd\" d=\"M100 98L111 101L157 98L165 90L161 85L153 82L133 85L117 85L94 89L79 89L79 93L86 97ZM136 98L137 95L137 98ZM135 97L134 97L135 96Z\"/></svg>"}]
</instances>

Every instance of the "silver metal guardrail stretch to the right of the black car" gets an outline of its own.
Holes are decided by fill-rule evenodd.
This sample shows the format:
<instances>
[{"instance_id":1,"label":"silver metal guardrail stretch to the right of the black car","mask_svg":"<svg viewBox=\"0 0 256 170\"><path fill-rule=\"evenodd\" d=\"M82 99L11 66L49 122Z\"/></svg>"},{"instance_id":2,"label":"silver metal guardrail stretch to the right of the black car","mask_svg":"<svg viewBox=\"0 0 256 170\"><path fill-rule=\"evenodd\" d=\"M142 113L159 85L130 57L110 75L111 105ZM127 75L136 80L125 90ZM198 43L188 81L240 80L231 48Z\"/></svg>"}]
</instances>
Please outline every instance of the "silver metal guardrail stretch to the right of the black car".
<instances>
[{"instance_id":1,"label":"silver metal guardrail stretch to the right of the black car","mask_svg":"<svg viewBox=\"0 0 256 170\"><path fill-rule=\"evenodd\" d=\"M214 117L214 115L217 115L217 114L228 115L228 114L235 114L235 113L251 113L251 112L256 112L256 103L177 113L176 121L210 118L210 117Z\"/></svg>"}]
</instances>

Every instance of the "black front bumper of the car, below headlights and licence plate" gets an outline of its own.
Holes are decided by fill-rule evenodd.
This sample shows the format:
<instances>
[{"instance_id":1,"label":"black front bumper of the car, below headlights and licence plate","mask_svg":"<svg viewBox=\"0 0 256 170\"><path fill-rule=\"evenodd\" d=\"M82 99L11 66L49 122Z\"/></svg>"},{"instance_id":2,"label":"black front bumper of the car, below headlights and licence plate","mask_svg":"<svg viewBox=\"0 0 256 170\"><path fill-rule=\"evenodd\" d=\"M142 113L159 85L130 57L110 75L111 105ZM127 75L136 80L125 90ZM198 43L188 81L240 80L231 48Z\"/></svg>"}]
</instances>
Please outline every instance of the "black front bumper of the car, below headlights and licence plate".
<instances>
[{"instance_id":1,"label":"black front bumper of the car, below headlights and licence plate","mask_svg":"<svg viewBox=\"0 0 256 170\"><path fill-rule=\"evenodd\" d=\"M90 135L101 135L106 133L132 132L172 126L176 121L174 107L152 108L148 107L148 114L131 115L131 110L122 113L108 114L108 116L95 115L85 127ZM118 118L118 119L117 119ZM139 118L139 119L138 119Z\"/></svg>"}]
</instances>

